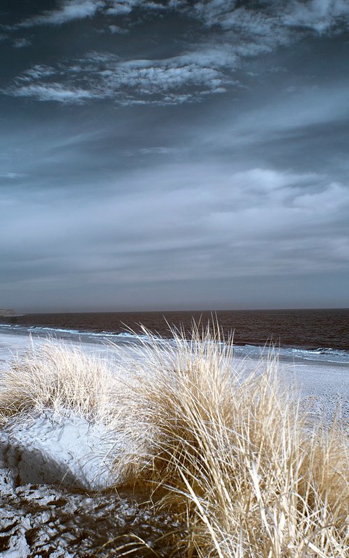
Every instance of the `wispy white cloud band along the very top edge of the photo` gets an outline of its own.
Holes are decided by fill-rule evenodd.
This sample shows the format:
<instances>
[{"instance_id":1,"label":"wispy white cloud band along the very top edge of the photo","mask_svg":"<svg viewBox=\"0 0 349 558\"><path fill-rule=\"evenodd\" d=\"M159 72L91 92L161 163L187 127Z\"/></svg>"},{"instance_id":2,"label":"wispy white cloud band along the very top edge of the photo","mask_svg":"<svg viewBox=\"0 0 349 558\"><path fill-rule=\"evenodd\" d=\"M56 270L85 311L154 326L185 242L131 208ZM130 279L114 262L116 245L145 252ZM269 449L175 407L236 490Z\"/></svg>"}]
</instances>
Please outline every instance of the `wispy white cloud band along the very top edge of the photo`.
<instances>
[{"instance_id":1,"label":"wispy white cloud band along the very top edge of the photo","mask_svg":"<svg viewBox=\"0 0 349 558\"><path fill-rule=\"evenodd\" d=\"M242 29L257 33L264 38L268 34L288 35L287 27L299 27L323 33L349 22L349 6L346 0L290 0L283 4L271 0L263 6L253 1L239 6L236 0L61 0L54 10L24 20L15 27L36 25L61 25L73 20L94 17L97 13L108 17L131 15L135 10L143 13L177 11L202 21L208 27L219 26L229 30ZM117 25L115 27L118 27ZM115 32L115 31L114 31Z\"/></svg>"}]
</instances>

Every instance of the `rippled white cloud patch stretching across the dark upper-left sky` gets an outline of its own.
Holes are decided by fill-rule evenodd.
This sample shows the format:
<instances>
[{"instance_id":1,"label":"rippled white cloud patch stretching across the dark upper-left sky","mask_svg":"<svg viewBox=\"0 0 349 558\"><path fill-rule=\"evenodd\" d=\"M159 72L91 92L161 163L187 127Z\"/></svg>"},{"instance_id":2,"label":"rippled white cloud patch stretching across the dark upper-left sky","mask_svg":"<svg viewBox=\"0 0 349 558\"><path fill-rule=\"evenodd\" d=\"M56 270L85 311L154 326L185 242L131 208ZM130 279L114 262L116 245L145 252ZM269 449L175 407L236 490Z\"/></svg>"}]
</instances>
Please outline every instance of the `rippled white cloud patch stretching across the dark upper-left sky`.
<instances>
[{"instance_id":1,"label":"rippled white cloud patch stretching across the dark upper-left sky","mask_svg":"<svg viewBox=\"0 0 349 558\"><path fill-rule=\"evenodd\" d=\"M226 48L222 56L207 49L168 59L128 61L91 52L56 68L33 66L18 76L6 93L61 103L110 98L122 105L171 105L200 100L237 84L230 76L235 63L235 55Z\"/></svg>"}]
</instances>

